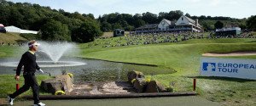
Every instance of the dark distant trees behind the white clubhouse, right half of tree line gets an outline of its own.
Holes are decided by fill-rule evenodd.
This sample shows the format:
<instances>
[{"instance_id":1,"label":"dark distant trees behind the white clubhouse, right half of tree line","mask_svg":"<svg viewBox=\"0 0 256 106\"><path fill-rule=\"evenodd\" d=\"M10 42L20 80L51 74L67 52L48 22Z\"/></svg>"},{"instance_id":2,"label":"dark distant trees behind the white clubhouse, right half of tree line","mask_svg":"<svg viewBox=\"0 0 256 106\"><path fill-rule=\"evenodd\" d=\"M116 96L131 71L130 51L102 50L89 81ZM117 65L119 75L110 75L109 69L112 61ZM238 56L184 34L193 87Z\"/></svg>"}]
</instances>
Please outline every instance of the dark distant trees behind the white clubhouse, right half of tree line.
<instances>
[{"instance_id":1,"label":"dark distant trees behind the white clubhouse, right half of tree line","mask_svg":"<svg viewBox=\"0 0 256 106\"><path fill-rule=\"evenodd\" d=\"M185 15L192 20L198 19L204 31L214 31L217 28L215 27L216 23L223 23L226 27L241 27L242 30L252 29L251 25L249 25L247 22L251 18L248 18L247 20L245 18L236 19L223 16L190 16L190 14L183 14L181 10L174 10L170 11L169 13L160 12L159 14L152 14L150 12L134 15L119 13L103 14L102 16L99 16L98 20L101 22L102 31L113 31L113 29L125 29L125 31L134 31L135 28L139 26L158 24L163 19L177 21L182 15ZM254 23L254 25L255 24L256 23Z\"/></svg>"}]
</instances>

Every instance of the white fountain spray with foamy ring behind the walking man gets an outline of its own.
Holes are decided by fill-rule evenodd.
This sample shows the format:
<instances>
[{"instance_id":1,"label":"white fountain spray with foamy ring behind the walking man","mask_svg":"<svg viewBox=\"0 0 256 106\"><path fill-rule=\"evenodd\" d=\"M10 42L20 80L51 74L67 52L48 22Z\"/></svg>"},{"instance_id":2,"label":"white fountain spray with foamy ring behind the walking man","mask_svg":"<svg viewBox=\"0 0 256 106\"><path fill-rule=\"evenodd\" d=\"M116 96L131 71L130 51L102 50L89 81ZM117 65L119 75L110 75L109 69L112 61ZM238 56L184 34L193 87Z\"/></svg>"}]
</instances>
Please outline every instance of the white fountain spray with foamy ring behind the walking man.
<instances>
[{"instance_id":1,"label":"white fountain spray with foamy ring behind the walking man","mask_svg":"<svg viewBox=\"0 0 256 106\"><path fill-rule=\"evenodd\" d=\"M40 67L70 67L70 66L78 66L84 65L84 62L79 61L63 61L61 57L64 54L68 53L76 53L78 49L76 49L75 44L70 42L39 42L41 45L38 47L37 55L37 63ZM27 48L27 47L26 47ZM16 62L4 62L0 65L8 66L8 67L17 67L19 64Z\"/></svg>"}]
</instances>

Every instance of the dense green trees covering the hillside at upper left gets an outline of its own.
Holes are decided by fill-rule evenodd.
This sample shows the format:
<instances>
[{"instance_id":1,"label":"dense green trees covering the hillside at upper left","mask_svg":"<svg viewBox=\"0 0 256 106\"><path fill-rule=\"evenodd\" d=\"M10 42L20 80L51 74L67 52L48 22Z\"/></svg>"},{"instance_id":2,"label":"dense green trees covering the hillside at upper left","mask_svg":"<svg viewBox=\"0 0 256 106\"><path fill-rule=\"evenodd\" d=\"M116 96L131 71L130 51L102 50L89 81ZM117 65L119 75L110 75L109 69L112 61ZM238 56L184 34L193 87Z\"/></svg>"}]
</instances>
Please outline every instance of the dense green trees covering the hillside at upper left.
<instances>
[{"instance_id":1,"label":"dense green trees covering the hillside at upper left","mask_svg":"<svg viewBox=\"0 0 256 106\"><path fill-rule=\"evenodd\" d=\"M0 23L38 31L45 41L92 42L101 36L100 23L93 14L68 13L31 3L0 0Z\"/></svg>"}]
</instances>

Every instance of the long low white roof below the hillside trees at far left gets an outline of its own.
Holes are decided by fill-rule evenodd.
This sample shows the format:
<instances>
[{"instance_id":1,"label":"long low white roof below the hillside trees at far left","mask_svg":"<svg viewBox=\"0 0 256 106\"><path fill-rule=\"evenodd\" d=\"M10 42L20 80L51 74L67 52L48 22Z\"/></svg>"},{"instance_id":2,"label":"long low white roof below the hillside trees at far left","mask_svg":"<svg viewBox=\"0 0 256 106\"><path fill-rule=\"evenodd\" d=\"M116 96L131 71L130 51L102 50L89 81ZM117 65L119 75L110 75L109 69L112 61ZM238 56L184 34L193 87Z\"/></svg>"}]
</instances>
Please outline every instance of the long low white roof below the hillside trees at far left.
<instances>
[{"instance_id":1,"label":"long low white roof below the hillside trees at far left","mask_svg":"<svg viewBox=\"0 0 256 106\"><path fill-rule=\"evenodd\" d=\"M38 31L28 31L28 30L22 30L14 25L11 26L6 26L5 30L7 32L12 32L12 33L31 33L31 34L38 34Z\"/></svg>"}]
</instances>

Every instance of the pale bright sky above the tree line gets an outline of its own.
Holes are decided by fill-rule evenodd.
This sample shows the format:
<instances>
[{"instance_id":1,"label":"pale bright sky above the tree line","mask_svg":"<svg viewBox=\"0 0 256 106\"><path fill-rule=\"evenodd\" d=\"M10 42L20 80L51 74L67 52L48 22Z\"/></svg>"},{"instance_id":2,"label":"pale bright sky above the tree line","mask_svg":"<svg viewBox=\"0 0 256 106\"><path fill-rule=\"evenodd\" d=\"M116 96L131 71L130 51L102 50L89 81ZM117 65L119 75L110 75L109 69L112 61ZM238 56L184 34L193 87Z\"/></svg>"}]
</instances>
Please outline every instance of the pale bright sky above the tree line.
<instances>
[{"instance_id":1,"label":"pale bright sky above the tree line","mask_svg":"<svg viewBox=\"0 0 256 106\"><path fill-rule=\"evenodd\" d=\"M191 16L224 16L236 19L256 15L256 0L8 0L14 3L37 3L67 12L99 15L159 14L181 10Z\"/></svg>"}]
</instances>

